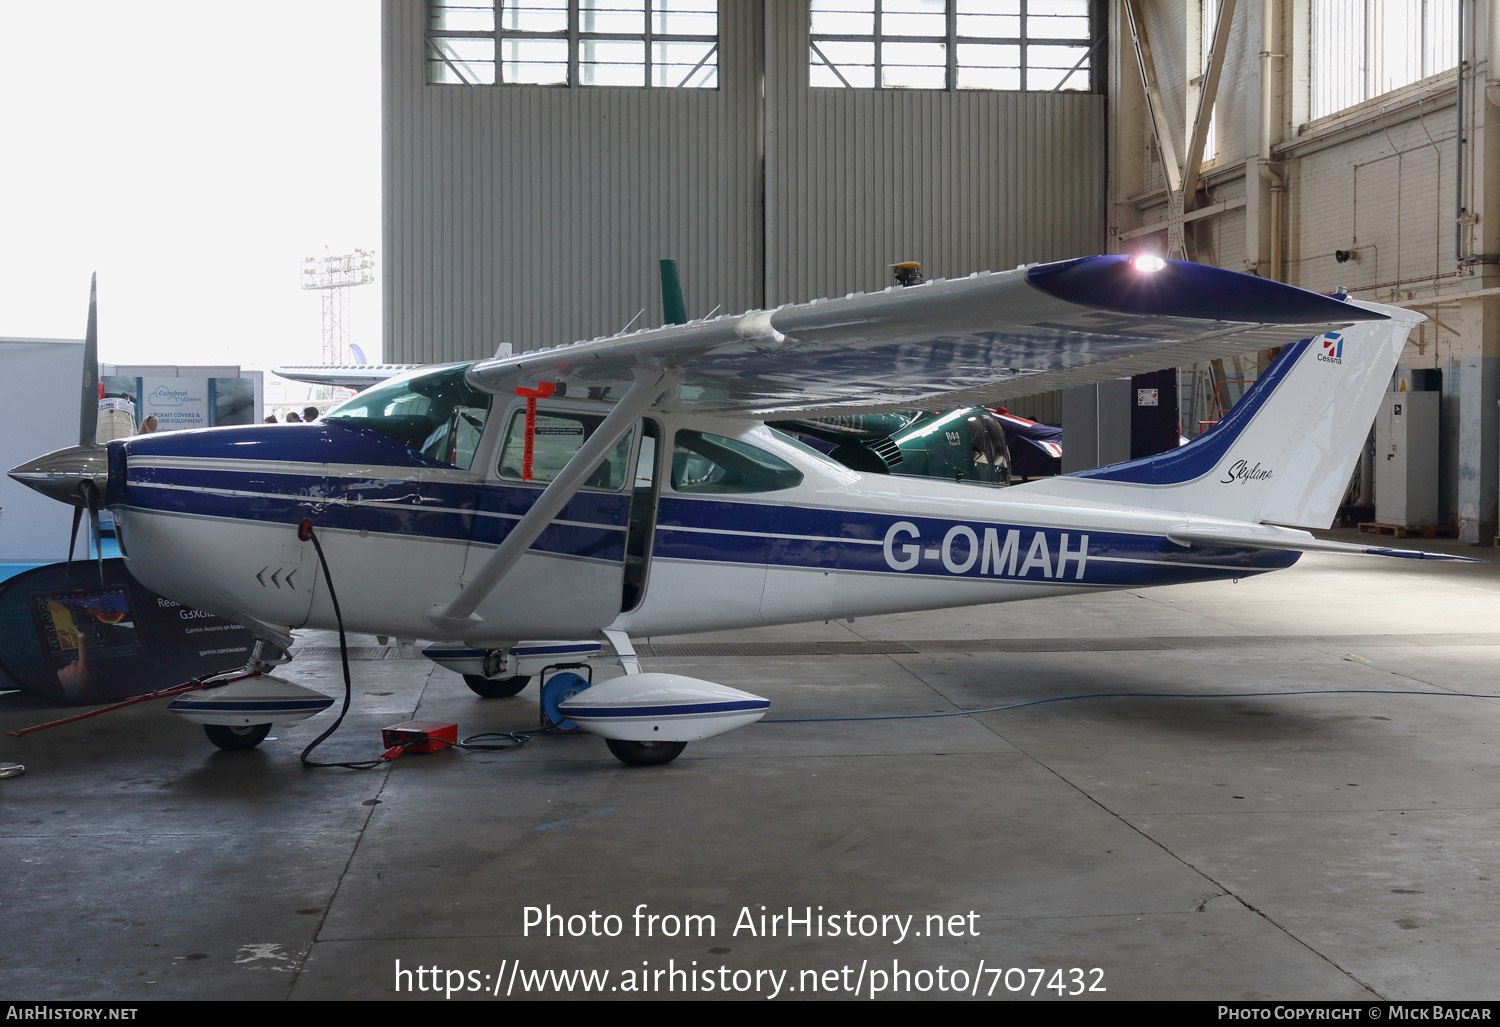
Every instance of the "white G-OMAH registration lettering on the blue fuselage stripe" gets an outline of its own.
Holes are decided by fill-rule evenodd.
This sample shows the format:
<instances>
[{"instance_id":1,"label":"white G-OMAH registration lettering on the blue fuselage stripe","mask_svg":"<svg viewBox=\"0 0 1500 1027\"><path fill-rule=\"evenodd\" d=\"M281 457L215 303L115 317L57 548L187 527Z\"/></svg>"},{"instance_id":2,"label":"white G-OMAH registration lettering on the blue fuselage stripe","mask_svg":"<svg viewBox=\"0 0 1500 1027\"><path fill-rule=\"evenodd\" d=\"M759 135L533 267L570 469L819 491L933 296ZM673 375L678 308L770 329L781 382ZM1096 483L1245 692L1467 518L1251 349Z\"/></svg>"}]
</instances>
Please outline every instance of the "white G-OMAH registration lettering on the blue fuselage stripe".
<instances>
[{"instance_id":1,"label":"white G-OMAH registration lettering on the blue fuselage stripe","mask_svg":"<svg viewBox=\"0 0 1500 1027\"><path fill-rule=\"evenodd\" d=\"M1068 564L1074 565L1074 580L1083 580L1083 568L1089 561L1089 537L1078 535L1077 546L1070 549L1068 532L1047 541L1046 531L1032 531L1022 544L1018 528L982 528L954 525L944 534L942 543L922 541L921 529L909 520L897 520L885 532L885 565L892 571L933 571L940 564L950 574L969 574L978 570L990 577L1064 577Z\"/></svg>"}]
</instances>

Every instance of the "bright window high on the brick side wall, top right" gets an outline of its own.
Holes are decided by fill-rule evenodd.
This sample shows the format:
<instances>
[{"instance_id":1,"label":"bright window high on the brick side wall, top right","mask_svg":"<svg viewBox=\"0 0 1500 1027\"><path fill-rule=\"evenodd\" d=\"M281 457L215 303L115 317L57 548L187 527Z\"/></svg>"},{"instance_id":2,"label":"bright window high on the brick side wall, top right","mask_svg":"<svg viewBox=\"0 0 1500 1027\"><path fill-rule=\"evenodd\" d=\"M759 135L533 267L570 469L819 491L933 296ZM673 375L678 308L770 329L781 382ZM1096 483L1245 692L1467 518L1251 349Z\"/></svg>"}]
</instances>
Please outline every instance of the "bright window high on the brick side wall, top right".
<instances>
[{"instance_id":1,"label":"bright window high on the brick side wall, top right","mask_svg":"<svg viewBox=\"0 0 1500 1027\"><path fill-rule=\"evenodd\" d=\"M1458 64L1458 0L1312 0L1320 118Z\"/></svg>"}]
</instances>

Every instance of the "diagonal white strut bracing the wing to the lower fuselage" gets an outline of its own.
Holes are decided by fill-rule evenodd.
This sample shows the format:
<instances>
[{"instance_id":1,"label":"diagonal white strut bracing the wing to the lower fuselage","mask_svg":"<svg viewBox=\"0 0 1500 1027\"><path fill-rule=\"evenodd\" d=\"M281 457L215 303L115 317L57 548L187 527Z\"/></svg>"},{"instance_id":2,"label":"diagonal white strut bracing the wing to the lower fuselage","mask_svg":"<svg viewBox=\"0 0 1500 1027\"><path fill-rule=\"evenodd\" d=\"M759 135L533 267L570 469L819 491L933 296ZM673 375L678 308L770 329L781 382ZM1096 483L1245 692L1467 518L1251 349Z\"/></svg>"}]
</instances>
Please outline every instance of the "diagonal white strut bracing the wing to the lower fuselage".
<instances>
[{"instance_id":1,"label":"diagonal white strut bracing the wing to the lower fuselage","mask_svg":"<svg viewBox=\"0 0 1500 1027\"><path fill-rule=\"evenodd\" d=\"M634 426L636 418L675 381L670 372L645 369L638 369L634 378L634 384L620 397L615 409L609 411L609 415L588 436L588 441L584 442L579 451L573 454L573 459L552 480L552 484L542 490L531 510L516 522L516 526L510 529L510 534L500 543L500 547L489 555L489 559L478 568L478 573L468 580L468 585L464 586L458 598L448 603L447 609L434 606L428 610L428 624L444 631L462 631L478 624L480 619L474 616L478 604L495 591L506 574L510 573L510 568L531 549L531 543L562 511L562 507L582 487L588 475L594 474L594 469L615 448L615 444Z\"/></svg>"}]
</instances>

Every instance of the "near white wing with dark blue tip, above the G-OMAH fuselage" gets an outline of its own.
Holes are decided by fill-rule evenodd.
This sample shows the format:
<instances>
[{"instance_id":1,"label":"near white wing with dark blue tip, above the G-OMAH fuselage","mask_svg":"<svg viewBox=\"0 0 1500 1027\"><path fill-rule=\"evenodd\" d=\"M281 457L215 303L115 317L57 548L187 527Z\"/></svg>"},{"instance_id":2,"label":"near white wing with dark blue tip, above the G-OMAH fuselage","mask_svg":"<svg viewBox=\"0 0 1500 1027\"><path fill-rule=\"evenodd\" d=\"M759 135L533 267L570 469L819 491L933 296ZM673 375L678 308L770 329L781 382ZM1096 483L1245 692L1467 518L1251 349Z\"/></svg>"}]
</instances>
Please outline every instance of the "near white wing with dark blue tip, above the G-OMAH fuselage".
<instances>
[{"instance_id":1,"label":"near white wing with dark blue tip, above the G-OMAH fuselage","mask_svg":"<svg viewBox=\"0 0 1500 1027\"><path fill-rule=\"evenodd\" d=\"M483 360L495 393L531 381L618 399L638 370L663 409L776 415L994 403L1282 346L1384 315L1182 261L1086 256Z\"/></svg>"}]
</instances>

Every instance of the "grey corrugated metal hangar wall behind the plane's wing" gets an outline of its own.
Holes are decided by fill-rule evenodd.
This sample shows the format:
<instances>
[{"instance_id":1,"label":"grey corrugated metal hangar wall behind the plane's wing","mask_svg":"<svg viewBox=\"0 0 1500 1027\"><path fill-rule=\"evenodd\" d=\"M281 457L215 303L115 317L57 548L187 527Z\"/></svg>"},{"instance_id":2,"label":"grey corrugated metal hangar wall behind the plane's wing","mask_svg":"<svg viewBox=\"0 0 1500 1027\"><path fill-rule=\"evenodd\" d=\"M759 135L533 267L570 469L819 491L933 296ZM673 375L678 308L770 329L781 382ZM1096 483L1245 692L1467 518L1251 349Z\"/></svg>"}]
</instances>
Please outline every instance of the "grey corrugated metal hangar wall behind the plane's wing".
<instances>
[{"instance_id":1,"label":"grey corrugated metal hangar wall behind the plane's wing","mask_svg":"<svg viewBox=\"0 0 1500 1027\"><path fill-rule=\"evenodd\" d=\"M1104 249L1104 96L807 85L807 4L720 0L717 90L429 85L384 6L386 354L471 360Z\"/></svg>"}]
</instances>

